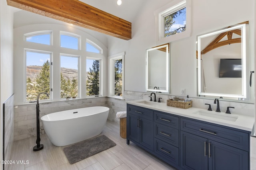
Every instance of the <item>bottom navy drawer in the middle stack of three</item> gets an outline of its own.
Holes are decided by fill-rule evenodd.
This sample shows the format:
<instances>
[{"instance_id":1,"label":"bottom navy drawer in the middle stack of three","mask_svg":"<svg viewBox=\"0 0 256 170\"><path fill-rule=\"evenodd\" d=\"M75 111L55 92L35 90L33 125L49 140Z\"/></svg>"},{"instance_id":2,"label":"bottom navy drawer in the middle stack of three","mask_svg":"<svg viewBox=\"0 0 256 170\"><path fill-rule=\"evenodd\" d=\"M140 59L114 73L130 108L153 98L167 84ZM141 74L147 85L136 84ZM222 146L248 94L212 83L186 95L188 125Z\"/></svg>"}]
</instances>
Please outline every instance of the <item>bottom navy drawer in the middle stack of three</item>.
<instances>
[{"instance_id":1,"label":"bottom navy drawer in the middle stack of three","mask_svg":"<svg viewBox=\"0 0 256 170\"><path fill-rule=\"evenodd\" d=\"M156 139L155 153L160 159L179 165L179 149L177 147Z\"/></svg>"}]
</instances>

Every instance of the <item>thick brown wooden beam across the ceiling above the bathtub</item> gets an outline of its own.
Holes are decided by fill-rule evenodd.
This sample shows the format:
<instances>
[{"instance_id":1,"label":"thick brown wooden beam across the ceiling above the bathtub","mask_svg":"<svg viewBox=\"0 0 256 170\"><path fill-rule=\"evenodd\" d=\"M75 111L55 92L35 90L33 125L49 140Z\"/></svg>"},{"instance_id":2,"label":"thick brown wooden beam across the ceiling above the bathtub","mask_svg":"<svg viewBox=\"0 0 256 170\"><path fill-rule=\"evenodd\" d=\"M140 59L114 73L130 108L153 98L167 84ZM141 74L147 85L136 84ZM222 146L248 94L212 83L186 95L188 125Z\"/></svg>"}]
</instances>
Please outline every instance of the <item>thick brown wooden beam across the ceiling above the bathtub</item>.
<instances>
[{"instance_id":1,"label":"thick brown wooden beam across the ceiling above the bathtub","mask_svg":"<svg viewBox=\"0 0 256 170\"><path fill-rule=\"evenodd\" d=\"M6 0L22 10L54 18L120 39L132 39L132 23L79 0Z\"/></svg>"}]
</instances>

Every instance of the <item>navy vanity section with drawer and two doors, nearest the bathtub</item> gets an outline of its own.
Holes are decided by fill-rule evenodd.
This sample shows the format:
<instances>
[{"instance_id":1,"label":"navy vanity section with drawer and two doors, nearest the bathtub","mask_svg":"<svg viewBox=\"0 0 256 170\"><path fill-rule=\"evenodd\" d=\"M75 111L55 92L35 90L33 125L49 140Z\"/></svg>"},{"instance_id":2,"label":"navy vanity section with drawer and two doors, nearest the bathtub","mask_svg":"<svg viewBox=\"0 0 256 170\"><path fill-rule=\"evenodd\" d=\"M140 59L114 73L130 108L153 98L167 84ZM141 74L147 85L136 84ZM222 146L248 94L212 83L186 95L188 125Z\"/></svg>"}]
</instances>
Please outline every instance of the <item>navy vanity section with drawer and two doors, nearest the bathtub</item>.
<instances>
[{"instance_id":1,"label":"navy vanity section with drawer and two doors, nearest the bathtub","mask_svg":"<svg viewBox=\"0 0 256 170\"><path fill-rule=\"evenodd\" d=\"M130 141L147 150L154 150L153 111L127 105L127 144Z\"/></svg>"}]
</instances>

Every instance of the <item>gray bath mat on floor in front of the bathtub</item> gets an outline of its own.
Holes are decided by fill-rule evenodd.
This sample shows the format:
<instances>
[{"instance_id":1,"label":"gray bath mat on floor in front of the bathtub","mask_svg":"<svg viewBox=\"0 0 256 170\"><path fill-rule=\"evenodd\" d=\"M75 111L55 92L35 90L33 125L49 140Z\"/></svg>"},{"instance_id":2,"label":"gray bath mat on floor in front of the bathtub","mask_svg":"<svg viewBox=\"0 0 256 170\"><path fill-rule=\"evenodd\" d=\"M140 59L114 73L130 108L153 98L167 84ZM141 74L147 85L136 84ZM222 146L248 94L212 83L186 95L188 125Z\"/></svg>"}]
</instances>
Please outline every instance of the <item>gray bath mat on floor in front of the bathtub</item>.
<instances>
[{"instance_id":1,"label":"gray bath mat on floor in front of the bathtub","mask_svg":"<svg viewBox=\"0 0 256 170\"><path fill-rule=\"evenodd\" d=\"M65 147L63 150L68 158L68 162L74 164L114 146L116 146L116 143L108 139L105 135L100 135Z\"/></svg>"}]
</instances>

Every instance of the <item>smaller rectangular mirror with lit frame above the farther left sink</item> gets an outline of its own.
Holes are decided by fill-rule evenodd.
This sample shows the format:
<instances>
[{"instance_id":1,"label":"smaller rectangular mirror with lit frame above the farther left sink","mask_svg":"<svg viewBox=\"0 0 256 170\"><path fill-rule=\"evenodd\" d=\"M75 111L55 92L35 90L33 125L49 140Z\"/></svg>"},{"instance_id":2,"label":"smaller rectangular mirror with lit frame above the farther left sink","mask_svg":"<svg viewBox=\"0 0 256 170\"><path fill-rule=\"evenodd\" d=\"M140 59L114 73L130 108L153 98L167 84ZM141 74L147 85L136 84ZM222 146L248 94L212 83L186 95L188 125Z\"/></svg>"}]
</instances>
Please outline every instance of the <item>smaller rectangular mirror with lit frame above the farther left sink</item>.
<instances>
[{"instance_id":1,"label":"smaller rectangular mirror with lit frame above the farther left sink","mask_svg":"<svg viewBox=\"0 0 256 170\"><path fill-rule=\"evenodd\" d=\"M146 90L170 93L169 43L146 50Z\"/></svg>"}]
</instances>

